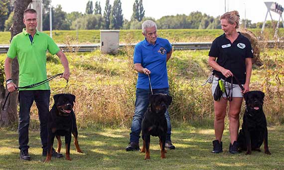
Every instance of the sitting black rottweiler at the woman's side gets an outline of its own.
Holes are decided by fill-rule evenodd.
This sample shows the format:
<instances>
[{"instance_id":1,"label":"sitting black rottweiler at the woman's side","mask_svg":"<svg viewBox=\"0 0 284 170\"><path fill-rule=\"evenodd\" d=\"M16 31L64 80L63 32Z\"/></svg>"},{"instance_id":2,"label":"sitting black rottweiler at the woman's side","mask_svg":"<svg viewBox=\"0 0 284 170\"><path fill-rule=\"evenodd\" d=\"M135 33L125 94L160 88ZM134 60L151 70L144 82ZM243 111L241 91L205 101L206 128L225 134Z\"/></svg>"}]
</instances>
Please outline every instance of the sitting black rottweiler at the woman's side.
<instances>
[{"instance_id":1,"label":"sitting black rottweiler at the woman's side","mask_svg":"<svg viewBox=\"0 0 284 170\"><path fill-rule=\"evenodd\" d=\"M244 94L246 111L238 136L238 144L240 150L247 151L246 155L250 155L252 150L260 152L263 143L265 153L271 155L268 149L267 122L263 112L264 96L261 91L250 91Z\"/></svg>"}]
</instances>

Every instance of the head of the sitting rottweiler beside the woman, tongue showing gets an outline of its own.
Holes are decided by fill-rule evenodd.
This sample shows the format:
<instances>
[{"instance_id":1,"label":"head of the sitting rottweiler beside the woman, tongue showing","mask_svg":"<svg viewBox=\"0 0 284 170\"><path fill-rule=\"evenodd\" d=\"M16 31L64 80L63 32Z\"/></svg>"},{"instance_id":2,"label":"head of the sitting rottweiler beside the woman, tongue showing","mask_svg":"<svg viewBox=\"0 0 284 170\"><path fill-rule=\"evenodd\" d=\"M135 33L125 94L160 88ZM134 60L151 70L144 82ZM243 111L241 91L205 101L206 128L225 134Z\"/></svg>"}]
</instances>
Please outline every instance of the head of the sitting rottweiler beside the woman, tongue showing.
<instances>
[{"instance_id":1,"label":"head of the sitting rottweiler beside the woman, tongue showing","mask_svg":"<svg viewBox=\"0 0 284 170\"><path fill-rule=\"evenodd\" d=\"M252 112L262 110L264 101L264 92L262 91L249 91L244 94L247 108Z\"/></svg>"}]
</instances>

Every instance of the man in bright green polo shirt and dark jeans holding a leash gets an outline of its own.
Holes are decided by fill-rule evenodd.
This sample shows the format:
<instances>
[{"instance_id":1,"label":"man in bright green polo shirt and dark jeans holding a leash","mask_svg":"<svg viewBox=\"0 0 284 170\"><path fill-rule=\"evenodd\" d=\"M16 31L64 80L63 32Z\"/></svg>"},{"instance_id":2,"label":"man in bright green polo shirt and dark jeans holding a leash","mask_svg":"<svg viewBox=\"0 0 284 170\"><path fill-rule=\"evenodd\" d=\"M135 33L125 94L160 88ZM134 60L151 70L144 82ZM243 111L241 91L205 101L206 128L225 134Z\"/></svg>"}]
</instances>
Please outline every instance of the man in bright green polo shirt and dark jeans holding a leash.
<instances>
[{"instance_id":1,"label":"man in bright green polo shirt and dark jeans holding a leash","mask_svg":"<svg viewBox=\"0 0 284 170\"><path fill-rule=\"evenodd\" d=\"M34 9L24 11L23 22L26 28L15 35L11 41L5 60L6 85L9 92L15 91L16 84L11 79L11 62L17 56L19 63L19 87L31 85L47 79L46 51L56 54L64 67L62 77L68 80L70 76L68 60L55 42L47 34L36 30L37 13ZM30 107L35 101L40 122L40 139L42 156L47 154L47 115L49 112L50 87L48 82L28 89L19 89L18 100L19 125L18 140L20 159L30 161L28 154L28 126ZM52 156L62 158L63 155L52 149Z\"/></svg>"}]
</instances>

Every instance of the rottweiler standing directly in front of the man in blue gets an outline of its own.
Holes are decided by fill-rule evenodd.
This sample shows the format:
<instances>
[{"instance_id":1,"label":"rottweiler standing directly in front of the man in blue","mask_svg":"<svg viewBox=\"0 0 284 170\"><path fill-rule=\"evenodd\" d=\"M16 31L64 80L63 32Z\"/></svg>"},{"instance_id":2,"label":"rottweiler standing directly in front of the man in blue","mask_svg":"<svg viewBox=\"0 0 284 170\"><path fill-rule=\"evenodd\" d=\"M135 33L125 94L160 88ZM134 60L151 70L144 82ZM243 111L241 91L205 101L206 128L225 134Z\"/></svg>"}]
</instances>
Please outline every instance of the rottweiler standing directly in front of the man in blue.
<instances>
[{"instance_id":1,"label":"rottweiler standing directly in front of the man in blue","mask_svg":"<svg viewBox=\"0 0 284 170\"><path fill-rule=\"evenodd\" d=\"M153 94L149 96L149 107L142 120L142 153L145 153L145 160L150 159L150 135L159 137L161 148L161 159L165 158L165 138L167 132L167 122L165 112L172 101L167 94Z\"/></svg>"}]
</instances>

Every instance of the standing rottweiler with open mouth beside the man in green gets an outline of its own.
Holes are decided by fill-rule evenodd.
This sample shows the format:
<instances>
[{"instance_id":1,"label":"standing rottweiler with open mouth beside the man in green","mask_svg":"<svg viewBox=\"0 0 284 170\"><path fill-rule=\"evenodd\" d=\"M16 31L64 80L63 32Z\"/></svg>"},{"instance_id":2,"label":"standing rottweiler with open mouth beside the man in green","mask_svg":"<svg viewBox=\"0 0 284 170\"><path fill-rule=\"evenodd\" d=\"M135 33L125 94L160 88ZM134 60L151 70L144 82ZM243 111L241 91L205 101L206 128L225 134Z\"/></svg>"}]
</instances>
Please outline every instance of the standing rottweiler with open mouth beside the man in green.
<instances>
[{"instance_id":1,"label":"standing rottweiler with open mouth beside the man in green","mask_svg":"<svg viewBox=\"0 0 284 170\"><path fill-rule=\"evenodd\" d=\"M52 146L54 142L54 137L58 141L57 152L60 153L61 150L61 139L60 136L65 136L65 146L66 146L66 160L71 161L70 158L70 143L71 143L71 133L75 137L75 147L78 153L83 153L79 147L78 143L78 130L76 125L76 117L73 111L73 106L75 102L75 96L72 94L56 94L53 96L54 105L48 115L48 137L47 137L47 147L48 152L45 162L50 162Z\"/></svg>"}]
</instances>

